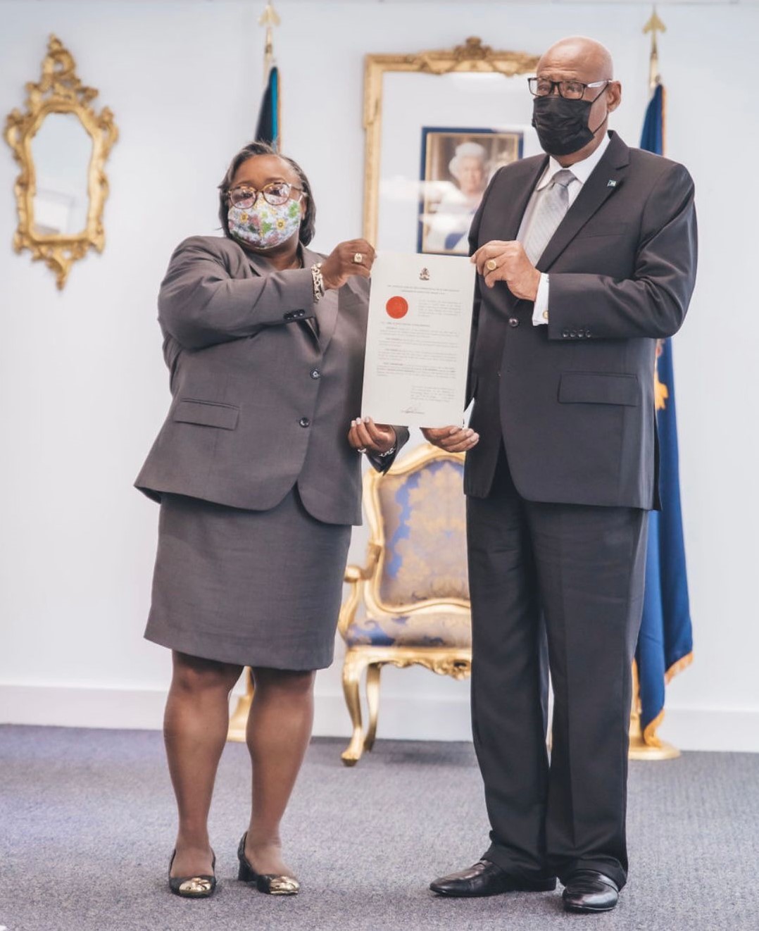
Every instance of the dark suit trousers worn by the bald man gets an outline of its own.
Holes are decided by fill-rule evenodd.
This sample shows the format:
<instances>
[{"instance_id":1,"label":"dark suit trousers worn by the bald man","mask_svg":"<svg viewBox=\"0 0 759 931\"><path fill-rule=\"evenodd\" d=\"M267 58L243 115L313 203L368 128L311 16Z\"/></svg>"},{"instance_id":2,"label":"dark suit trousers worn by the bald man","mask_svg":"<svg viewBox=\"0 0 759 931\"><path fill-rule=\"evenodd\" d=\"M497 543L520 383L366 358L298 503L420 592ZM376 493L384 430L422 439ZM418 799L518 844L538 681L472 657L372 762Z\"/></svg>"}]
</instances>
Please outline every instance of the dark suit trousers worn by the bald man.
<instances>
[{"instance_id":1,"label":"dark suit trousers worn by the bald man","mask_svg":"<svg viewBox=\"0 0 759 931\"><path fill-rule=\"evenodd\" d=\"M502 451L490 496L468 498L467 521L472 728L492 827L484 856L526 877L598 870L621 888L647 514L525 501Z\"/></svg>"}]
</instances>

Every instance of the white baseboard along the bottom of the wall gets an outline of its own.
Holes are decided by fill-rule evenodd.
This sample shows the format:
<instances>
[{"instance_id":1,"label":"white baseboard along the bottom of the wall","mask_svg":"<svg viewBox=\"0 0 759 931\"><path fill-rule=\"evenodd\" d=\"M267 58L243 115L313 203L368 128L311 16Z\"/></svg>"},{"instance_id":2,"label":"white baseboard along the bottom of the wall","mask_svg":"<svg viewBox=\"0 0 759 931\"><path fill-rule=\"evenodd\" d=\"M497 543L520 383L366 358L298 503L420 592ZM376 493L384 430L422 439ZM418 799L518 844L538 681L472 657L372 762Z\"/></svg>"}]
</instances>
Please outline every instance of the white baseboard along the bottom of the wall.
<instances>
[{"instance_id":1,"label":"white baseboard along the bottom of the wall","mask_svg":"<svg viewBox=\"0 0 759 931\"><path fill-rule=\"evenodd\" d=\"M162 689L0 683L0 722L158 730L165 701ZM343 695L318 689L314 734L348 738ZM380 739L470 740L468 701L388 691L382 695L377 734ZM667 708L659 735L683 750L759 753L759 708Z\"/></svg>"}]
</instances>

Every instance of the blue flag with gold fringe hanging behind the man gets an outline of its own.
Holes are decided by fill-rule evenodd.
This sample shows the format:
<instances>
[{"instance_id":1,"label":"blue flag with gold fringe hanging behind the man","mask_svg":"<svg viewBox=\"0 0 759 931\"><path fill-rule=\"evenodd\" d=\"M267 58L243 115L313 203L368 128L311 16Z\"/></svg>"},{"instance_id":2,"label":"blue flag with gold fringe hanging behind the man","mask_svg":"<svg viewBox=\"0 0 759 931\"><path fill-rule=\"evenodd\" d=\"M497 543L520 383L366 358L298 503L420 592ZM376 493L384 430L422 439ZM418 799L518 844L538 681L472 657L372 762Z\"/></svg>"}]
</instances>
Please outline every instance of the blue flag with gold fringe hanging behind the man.
<instances>
[{"instance_id":1,"label":"blue flag with gold fringe hanging behind the man","mask_svg":"<svg viewBox=\"0 0 759 931\"><path fill-rule=\"evenodd\" d=\"M641 148L663 155L664 88L657 84L645 112ZM674 406L672 347L657 344L655 373L659 441L660 511L648 519L643 623L635 659L644 742L659 746L657 727L664 717L665 684L693 659L693 629L685 569L683 515Z\"/></svg>"}]
</instances>

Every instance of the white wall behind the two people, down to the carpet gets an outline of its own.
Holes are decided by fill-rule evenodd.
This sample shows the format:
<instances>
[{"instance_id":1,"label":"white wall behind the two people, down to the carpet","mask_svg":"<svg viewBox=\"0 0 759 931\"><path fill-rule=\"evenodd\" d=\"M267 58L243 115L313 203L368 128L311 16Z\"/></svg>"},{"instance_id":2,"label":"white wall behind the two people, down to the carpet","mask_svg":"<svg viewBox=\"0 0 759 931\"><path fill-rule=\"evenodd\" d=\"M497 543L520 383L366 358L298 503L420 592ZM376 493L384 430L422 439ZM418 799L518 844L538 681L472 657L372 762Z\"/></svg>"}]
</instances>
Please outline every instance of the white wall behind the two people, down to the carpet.
<instances>
[{"instance_id":1,"label":"white wall behind the two people, down to the carpet","mask_svg":"<svg viewBox=\"0 0 759 931\"><path fill-rule=\"evenodd\" d=\"M28 253L12 253L16 166L0 151L2 721L159 725L169 657L142 641L157 509L130 487L169 400L156 289L176 243L213 232L215 185L251 138L263 6L0 2L0 113L22 104L55 33L121 133L108 164L105 252L77 263L62 293ZM477 34L537 53L564 34L590 34L613 50L625 87L614 125L638 139L647 5L279 0L278 9L285 146L314 184L322 250L360 233L367 52L452 47ZM696 663L671 684L662 734L684 748L759 750L759 8L660 13L668 151L696 178L701 225L698 291L675 342ZM354 560L364 541L355 534ZM320 673L318 690L318 732L347 734L338 666ZM380 735L468 735L466 683L390 669L385 697Z\"/></svg>"}]
</instances>

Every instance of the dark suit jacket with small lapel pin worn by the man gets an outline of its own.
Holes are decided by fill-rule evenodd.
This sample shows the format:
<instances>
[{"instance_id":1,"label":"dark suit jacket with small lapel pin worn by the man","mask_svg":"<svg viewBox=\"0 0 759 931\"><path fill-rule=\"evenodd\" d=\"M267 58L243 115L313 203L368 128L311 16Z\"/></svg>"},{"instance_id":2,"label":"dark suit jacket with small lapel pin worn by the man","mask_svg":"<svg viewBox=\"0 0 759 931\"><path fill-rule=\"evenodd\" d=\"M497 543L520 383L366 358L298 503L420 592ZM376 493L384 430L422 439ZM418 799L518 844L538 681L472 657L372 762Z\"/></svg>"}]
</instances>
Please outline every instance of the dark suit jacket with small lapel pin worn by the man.
<instances>
[{"instance_id":1,"label":"dark suit jacket with small lapel pin worn by the man","mask_svg":"<svg viewBox=\"0 0 759 931\"><path fill-rule=\"evenodd\" d=\"M577 505L659 506L654 359L680 329L696 277L694 188L682 165L611 142L537 267L549 324L501 282L479 287L469 393L481 436L465 487L486 497L503 439L522 497ZM495 174L470 248L515 239L548 162Z\"/></svg>"}]
</instances>

